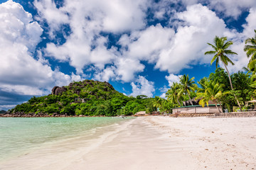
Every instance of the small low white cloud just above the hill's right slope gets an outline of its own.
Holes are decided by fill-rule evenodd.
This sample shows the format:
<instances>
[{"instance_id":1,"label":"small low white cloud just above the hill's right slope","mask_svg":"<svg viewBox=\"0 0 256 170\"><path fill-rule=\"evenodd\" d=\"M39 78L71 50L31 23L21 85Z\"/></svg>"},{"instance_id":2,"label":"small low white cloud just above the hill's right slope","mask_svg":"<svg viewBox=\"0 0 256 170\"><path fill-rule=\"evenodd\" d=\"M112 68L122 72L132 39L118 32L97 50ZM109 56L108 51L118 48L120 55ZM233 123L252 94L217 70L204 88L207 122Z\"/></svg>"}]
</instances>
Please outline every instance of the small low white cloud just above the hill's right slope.
<instances>
[{"instance_id":1,"label":"small low white cloud just above the hill's right slope","mask_svg":"<svg viewBox=\"0 0 256 170\"><path fill-rule=\"evenodd\" d=\"M153 97L154 82L148 81L145 77L139 76L138 79L131 83L132 94L130 96L146 95L148 97Z\"/></svg>"}]
</instances>

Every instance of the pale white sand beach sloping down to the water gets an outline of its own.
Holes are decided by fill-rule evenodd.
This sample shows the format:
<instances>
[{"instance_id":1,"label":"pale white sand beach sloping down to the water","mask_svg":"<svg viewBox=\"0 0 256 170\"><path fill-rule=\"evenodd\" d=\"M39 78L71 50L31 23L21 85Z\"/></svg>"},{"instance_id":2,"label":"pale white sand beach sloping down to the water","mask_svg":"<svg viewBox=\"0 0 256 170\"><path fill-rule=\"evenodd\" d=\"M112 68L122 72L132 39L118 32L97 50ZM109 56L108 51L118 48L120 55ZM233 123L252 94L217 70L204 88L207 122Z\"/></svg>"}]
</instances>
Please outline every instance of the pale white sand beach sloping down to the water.
<instances>
[{"instance_id":1,"label":"pale white sand beach sloping down to the water","mask_svg":"<svg viewBox=\"0 0 256 170\"><path fill-rule=\"evenodd\" d=\"M256 118L136 118L0 169L256 169Z\"/></svg>"}]
</instances>

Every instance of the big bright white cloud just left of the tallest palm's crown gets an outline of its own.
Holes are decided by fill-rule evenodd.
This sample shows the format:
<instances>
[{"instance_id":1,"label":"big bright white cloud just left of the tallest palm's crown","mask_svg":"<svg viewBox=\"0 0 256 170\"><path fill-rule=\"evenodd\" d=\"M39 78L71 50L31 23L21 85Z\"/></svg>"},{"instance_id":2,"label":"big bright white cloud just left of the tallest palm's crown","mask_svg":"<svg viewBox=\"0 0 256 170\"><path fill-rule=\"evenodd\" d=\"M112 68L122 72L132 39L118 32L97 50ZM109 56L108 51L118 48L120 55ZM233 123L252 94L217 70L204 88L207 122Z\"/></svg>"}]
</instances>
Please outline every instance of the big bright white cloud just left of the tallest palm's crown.
<instances>
[{"instance_id":1,"label":"big bright white cloud just left of the tallest palm's crown","mask_svg":"<svg viewBox=\"0 0 256 170\"><path fill-rule=\"evenodd\" d=\"M222 36L228 29L225 23L206 6L188 6L187 11L176 14L182 20L170 46L161 50L156 68L169 73L178 73L193 64L210 62L210 56L203 55L208 50L206 42L213 41L215 35Z\"/></svg>"}]
</instances>

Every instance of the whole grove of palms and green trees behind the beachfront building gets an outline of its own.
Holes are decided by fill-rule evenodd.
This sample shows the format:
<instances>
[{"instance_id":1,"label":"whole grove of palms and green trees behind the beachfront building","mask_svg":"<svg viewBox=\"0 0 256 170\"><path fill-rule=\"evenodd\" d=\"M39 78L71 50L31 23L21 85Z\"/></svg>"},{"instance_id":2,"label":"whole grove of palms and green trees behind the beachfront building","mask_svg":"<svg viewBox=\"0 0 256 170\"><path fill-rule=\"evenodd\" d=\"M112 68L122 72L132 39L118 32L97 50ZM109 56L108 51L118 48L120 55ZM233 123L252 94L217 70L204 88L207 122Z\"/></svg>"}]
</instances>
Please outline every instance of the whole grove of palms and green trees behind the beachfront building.
<instances>
[{"instance_id":1,"label":"whole grove of palms and green trees behind the beachfront building","mask_svg":"<svg viewBox=\"0 0 256 170\"><path fill-rule=\"evenodd\" d=\"M256 98L256 30L254 38L245 40L244 50L247 52L247 57L250 57L247 68L244 68L245 72L240 71L230 75L227 66L234 63L228 55L238 55L228 49L233 45L232 41L228 41L226 37L215 36L213 44L208 43L208 45L213 50L205 52L205 55L213 55L210 64L215 62L215 72L198 81L198 86L193 81L194 78L189 79L188 75L183 75L180 81L171 84L166 92L167 101L174 107L180 107L182 101L196 97L193 99L200 99L199 104L203 107L208 106L208 101L212 101L218 111L223 109L234 111L236 107L239 107L236 111L245 111L249 108L247 101ZM219 64L225 69L218 67Z\"/></svg>"}]
</instances>

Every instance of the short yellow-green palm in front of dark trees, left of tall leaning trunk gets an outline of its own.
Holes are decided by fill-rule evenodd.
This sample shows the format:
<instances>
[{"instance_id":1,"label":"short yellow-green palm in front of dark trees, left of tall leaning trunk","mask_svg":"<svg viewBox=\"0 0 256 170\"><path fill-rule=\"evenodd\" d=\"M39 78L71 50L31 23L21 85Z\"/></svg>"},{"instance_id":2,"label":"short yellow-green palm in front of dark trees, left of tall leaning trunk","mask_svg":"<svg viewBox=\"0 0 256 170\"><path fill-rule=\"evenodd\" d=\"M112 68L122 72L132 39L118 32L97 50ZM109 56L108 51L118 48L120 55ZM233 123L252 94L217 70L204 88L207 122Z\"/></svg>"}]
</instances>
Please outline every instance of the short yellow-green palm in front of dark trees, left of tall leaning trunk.
<instances>
[{"instance_id":1,"label":"short yellow-green palm in front of dark trees, left of tall leaning trunk","mask_svg":"<svg viewBox=\"0 0 256 170\"><path fill-rule=\"evenodd\" d=\"M220 113L220 108L218 108L217 103L220 103L219 100L225 94L229 92L223 93L224 84L215 83L215 81L206 80L204 84L201 84L202 88L200 88L198 93L196 94L196 98L201 98L199 104L204 107L205 104L208 106L208 101L213 101L216 108Z\"/></svg>"}]
</instances>

